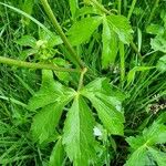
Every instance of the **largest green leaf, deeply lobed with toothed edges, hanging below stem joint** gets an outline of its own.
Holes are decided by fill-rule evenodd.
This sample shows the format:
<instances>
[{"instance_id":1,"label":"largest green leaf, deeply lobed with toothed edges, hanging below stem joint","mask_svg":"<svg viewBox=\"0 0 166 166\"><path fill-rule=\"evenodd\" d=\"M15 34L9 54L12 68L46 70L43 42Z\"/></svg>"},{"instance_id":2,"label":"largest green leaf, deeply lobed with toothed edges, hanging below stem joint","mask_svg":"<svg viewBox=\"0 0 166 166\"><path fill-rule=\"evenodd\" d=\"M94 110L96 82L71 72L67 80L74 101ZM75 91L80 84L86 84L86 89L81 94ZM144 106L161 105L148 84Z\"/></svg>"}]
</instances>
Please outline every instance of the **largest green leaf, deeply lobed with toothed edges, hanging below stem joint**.
<instances>
[{"instance_id":1,"label":"largest green leaf, deeply lobed with toothed edges, hanging below stem joint","mask_svg":"<svg viewBox=\"0 0 166 166\"><path fill-rule=\"evenodd\" d=\"M75 92L54 82L52 72L43 71L41 89L28 105L31 111L41 108L33 117L31 125L33 139L39 141L40 144L52 138L56 139L55 127L59 124L63 107L74 97L64 123L63 144L69 158L75 166L89 165L95 157L93 147L95 145L93 135L95 120L81 95L86 96L92 102L98 117L111 134L123 135L124 133L124 115L120 100L122 96L118 96L117 93L112 96L107 90L113 91L108 81L96 79L81 92Z\"/></svg>"}]
</instances>

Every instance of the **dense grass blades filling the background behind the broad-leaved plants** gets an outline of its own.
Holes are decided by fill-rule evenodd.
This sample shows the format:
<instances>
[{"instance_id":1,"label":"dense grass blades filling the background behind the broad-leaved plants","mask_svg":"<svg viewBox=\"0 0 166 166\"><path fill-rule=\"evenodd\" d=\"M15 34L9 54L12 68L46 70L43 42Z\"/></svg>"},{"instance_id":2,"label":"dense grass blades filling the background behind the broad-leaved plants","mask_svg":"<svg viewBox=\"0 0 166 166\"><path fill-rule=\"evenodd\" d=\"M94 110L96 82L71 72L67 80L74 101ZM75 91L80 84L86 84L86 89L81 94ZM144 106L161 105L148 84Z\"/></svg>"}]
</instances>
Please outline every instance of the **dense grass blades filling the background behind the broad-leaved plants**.
<instances>
[{"instance_id":1,"label":"dense grass blades filling the background behind the broad-leaved plants","mask_svg":"<svg viewBox=\"0 0 166 166\"><path fill-rule=\"evenodd\" d=\"M1 2L28 12L51 31L54 31L38 0L30 0L29 6L28 0L1 0ZM118 0L103 0L106 9L117 9L117 2ZM122 2L122 14L127 17L132 2L132 0ZM68 1L50 0L50 4L63 30L66 31L73 22ZM82 2L81 6L83 6ZM131 46L126 46L126 72L138 65L156 65L158 59L163 55L162 52L155 52L151 49L151 38L154 38L154 35L146 33L146 28L151 23L163 25L158 18L160 11L166 8L166 2L160 0L158 6L155 8L154 6L155 0L145 0L137 1L134 7L131 23L134 30L134 42L139 45L143 59L139 59ZM39 39L38 31L38 27L30 20L0 6L0 55L21 59L22 51L25 48L20 46L15 41L24 34ZM123 103L126 117L125 135L139 134L145 126L148 126L164 112L164 110L156 108L157 106L154 105L165 104L166 75L155 69L138 72L133 84L122 86L118 58L113 68L108 70L102 70L101 68L102 43L98 33L100 30L95 32L94 38L85 46L77 51L80 54L84 53L82 59L97 76L110 77L113 84L128 96ZM59 52L62 54L64 51L63 46L59 48ZM90 80L91 77L87 77L86 82ZM40 70L33 71L0 64L0 164L2 165L44 166L49 160L53 144L40 146L31 141L29 129L34 113L25 108L29 98L39 90L40 83ZM72 86L74 86L74 83L72 83ZM118 144L116 153L110 153L112 155L111 165L121 166L126 160L127 144L122 137L115 136L114 138ZM69 165L71 164L69 163Z\"/></svg>"}]
</instances>

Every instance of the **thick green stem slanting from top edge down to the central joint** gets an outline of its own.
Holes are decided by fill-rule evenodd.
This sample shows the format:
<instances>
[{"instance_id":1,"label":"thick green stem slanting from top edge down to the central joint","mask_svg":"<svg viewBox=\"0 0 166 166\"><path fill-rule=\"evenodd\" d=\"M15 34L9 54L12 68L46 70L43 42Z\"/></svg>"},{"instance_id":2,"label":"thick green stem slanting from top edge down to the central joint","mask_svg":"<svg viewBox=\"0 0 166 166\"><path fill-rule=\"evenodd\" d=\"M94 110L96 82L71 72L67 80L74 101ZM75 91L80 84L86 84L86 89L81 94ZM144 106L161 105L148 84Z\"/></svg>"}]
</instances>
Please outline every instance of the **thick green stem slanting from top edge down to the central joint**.
<instances>
[{"instance_id":1,"label":"thick green stem slanting from top edge down to the central joint","mask_svg":"<svg viewBox=\"0 0 166 166\"><path fill-rule=\"evenodd\" d=\"M48 3L48 0L41 0L41 3L49 17L49 19L51 20L51 22L53 23L55 30L58 31L59 35L61 37L62 41L64 42L64 44L66 45L69 52L71 53L71 56L76 61L76 63L83 69L84 68L84 63L82 62L82 60L79 58L79 55L76 54L75 50L72 48L71 43L69 42L68 38L65 37L61 25L59 24L56 18L53 14L53 11L51 10L51 7Z\"/></svg>"}]
</instances>

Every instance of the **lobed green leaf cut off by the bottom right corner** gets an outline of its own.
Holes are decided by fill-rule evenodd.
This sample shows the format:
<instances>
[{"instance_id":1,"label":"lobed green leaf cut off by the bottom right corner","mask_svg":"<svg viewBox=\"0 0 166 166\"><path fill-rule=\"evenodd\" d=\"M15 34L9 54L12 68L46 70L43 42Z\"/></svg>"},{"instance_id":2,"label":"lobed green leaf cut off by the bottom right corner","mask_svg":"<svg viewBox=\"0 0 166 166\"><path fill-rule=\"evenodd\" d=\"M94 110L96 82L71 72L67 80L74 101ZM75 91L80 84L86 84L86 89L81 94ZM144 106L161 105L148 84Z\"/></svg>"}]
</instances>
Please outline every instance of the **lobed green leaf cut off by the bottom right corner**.
<instances>
[{"instance_id":1,"label":"lobed green leaf cut off by the bottom right corner","mask_svg":"<svg viewBox=\"0 0 166 166\"><path fill-rule=\"evenodd\" d=\"M143 131L142 135L127 137L126 141L132 148L132 154L125 166L154 165L155 162L163 166L166 162L166 154L157 148L154 149L155 145L166 143L166 126L162 124L162 121L154 122L152 126Z\"/></svg>"}]
</instances>

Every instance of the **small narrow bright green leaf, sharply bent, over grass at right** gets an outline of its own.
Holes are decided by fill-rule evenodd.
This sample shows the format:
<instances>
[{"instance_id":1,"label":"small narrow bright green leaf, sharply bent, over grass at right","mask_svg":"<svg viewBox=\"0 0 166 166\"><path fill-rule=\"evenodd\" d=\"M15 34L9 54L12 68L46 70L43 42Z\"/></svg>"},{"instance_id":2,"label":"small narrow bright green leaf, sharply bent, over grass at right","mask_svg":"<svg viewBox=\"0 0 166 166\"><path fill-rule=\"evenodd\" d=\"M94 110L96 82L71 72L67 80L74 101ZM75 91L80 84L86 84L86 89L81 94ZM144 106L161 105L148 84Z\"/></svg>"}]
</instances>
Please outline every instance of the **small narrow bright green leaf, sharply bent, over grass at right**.
<instances>
[{"instance_id":1,"label":"small narrow bright green leaf, sharply bent, over grass at right","mask_svg":"<svg viewBox=\"0 0 166 166\"><path fill-rule=\"evenodd\" d=\"M144 72L154 69L154 66L135 66L127 74L127 84L131 84L135 79L136 72Z\"/></svg>"}]
</instances>

